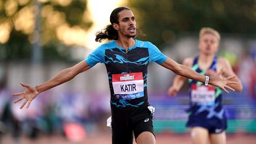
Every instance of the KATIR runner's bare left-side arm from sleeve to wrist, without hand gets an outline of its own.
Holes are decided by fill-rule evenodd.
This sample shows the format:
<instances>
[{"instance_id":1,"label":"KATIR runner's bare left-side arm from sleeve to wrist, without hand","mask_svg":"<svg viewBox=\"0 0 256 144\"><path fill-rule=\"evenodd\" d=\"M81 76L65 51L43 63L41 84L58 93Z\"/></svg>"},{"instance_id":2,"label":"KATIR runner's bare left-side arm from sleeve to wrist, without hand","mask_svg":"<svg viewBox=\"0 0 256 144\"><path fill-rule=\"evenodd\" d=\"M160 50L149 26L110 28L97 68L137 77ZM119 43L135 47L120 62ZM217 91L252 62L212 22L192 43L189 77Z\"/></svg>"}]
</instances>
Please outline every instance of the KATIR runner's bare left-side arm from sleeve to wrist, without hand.
<instances>
[{"instance_id":1,"label":"KATIR runner's bare left-side arm from sleeve to wrist, without hand","mask_svg":"<svg viewBox=\"0 0 256 144\"><path fill-rule=\"evenodd\" d=\"M90 68L91 67L87 64L87 62L81 61L73 67L69 67L68 69L64 69L61 72L59 72L59 74L57 74L55 77L48 80L47 82L45 82L41 85L38 85L36 87L37 90L38 90L38 93L41 93L43 91L49 90L50 88L61 85L62 83L71 80L76 75L78 75L81 72L84 72L85 70L88 70Z\"/></svg>"}]
</instances>

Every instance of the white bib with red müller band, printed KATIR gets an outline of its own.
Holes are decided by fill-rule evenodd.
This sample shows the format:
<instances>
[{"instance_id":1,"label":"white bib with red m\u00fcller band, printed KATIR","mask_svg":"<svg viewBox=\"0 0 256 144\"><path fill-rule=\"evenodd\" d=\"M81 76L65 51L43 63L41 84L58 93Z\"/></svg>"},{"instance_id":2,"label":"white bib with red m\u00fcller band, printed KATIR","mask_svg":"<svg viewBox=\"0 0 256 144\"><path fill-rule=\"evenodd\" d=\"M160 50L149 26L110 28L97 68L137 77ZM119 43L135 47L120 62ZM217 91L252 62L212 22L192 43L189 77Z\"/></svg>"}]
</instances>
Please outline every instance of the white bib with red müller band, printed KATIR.
<instances>
[{"instance_id":1,"label":"white bib with red m\u00fcller band, printed KATIR","mask_svg":"<svg viewBox=\"0 0 256 144\"><path fill-rule=\"evenodd\" d=\"M114 96L119 100L130 100L144 96L142 72L113 74Z\"/></svg>"}]
</instances>

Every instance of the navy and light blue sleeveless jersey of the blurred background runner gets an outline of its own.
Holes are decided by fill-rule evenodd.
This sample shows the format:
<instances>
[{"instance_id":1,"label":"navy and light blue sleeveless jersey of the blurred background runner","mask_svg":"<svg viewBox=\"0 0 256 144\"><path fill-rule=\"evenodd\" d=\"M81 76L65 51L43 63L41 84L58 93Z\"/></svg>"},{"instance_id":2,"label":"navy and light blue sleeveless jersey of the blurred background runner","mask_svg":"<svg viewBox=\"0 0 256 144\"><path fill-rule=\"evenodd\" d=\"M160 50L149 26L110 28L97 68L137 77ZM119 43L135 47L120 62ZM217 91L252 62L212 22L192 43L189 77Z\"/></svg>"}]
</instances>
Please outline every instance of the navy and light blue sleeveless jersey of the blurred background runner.
<instances>
[{"instance_id":1,"label":"navy and light blue sleeveless jersey of the blurred background runner","mask_svg":"<svg viewBox=\"0 0 256 144\"><path fill-rule=\"evenodd\" d=\"M217 66L217 57L214 57L211 66L208 70L215 70ZM207 74L207 70L201 70L198 66L198 56L195 57L192 69L199 74ZM221 88L208 85L207 87L202 82L189 79L189 94L190 94L190 117L196 119L223 119L224 109L222 106L222 90Z\"/></svg>"}]
</instances>

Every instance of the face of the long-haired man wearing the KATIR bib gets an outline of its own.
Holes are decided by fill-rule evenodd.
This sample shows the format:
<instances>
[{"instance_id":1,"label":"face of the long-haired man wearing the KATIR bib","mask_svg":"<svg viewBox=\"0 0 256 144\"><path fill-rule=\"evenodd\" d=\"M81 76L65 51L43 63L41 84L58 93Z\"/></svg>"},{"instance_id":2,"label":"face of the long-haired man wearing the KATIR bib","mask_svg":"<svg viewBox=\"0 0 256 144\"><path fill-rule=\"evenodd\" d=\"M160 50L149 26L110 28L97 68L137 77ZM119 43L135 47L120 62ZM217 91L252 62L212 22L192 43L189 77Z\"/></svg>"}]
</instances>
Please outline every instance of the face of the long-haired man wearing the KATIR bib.
<instances>
[{"instance_id":1,"label":"face of the long-haired man wearing the KATIR bib","mask_svg":"<svg viewBox=\"0 0 256 144\"><path fill-rule=\"evenodd\" d=\"M124 10L119 12L119 35L124 35L129 38L136 36L136 22L132 11Z\"/></svg>"}]
</instances>

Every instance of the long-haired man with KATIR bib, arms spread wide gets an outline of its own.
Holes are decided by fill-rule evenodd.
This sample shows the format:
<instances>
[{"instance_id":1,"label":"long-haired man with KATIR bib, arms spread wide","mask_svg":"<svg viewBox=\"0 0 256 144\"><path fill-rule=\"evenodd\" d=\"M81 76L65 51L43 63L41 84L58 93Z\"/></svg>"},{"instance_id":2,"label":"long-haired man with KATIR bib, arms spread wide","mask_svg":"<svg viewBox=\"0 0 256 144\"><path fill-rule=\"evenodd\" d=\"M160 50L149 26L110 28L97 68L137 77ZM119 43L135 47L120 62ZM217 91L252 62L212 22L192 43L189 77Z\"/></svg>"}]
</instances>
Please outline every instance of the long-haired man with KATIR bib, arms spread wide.
<instances>
[{"instance_id":1,"label":"long-haired man with KATIR bib, arms spread wide","mask_svg":"<svg viewBox=\"0 0 256 144\"><path fill-rule=\"evenodd\" d=\"M14 96L22 95L15 100L17 103L24 100L30 103L36 96L50 88L61 85L95 66L98 62L104 63L109 78L111 91L111 115L112 115L112 143L131 144L133 133L137 143L153 144L153 122L151 112L148 110L147 96L147 67L150 62L157 62L167 69L173 70L183 77L192 78L200 82L209 82L213 85L233 90L227 84L236 83L234 77L222 77L221 73L214 77L200 75L187 66L164 56L163 53L150 42L135 40L137 28L135 17L127 7L118 7L110 15L111 25L96 34L96 41L112 40L95 49L85 61L79 62L73 67L62 70L58 75L47 82L32 87L25 83L21 85L27 88Z\"/></svg>"}]
</instances>

